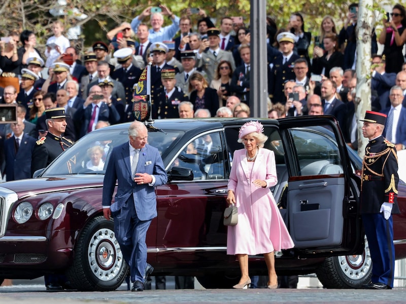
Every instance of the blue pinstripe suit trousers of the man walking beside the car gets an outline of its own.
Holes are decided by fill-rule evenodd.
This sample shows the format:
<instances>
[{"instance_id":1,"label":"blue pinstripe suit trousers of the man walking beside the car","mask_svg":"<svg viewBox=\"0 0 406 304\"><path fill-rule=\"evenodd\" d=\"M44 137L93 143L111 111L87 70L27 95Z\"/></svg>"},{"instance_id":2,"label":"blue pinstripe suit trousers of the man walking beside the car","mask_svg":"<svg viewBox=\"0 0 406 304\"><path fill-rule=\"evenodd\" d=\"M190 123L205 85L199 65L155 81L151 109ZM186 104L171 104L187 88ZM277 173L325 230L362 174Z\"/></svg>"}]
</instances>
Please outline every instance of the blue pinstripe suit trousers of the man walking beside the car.
<instances>
[{"instance_id":1,"label":"blue pinstripe suit trousers of the man walking beside the car","mask_svg":"<svg viewBox=\"0 0 406 304\"><path fill-rule=\"evenodd\" d=\"M133 196L118 211L112 212L114 233L124 260L130 267L131 282L144 282L147 267L146 237L151 220L140 220L134 206Z\"/></svg>"}]
</instances>

